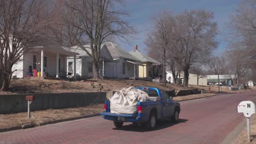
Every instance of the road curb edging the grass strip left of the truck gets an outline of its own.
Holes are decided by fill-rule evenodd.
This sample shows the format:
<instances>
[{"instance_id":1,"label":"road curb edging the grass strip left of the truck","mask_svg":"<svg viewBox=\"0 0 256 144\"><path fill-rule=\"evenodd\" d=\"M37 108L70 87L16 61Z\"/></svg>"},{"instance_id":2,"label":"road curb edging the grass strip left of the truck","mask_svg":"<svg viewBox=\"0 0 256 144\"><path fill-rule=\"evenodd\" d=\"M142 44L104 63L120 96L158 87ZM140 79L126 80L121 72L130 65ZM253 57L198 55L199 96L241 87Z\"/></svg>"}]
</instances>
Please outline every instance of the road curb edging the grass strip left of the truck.
<instances>
[{"instance_id":1,"label":"road curb edging the grass strip left of the truck","mask_svg":"<svg viewBox=\"0 0 256 144\"><path fill-rule=\"evenodd\" d=\"M92 115L79 116L79 117L66 118L66 119L58 119L58 120L52 121L52 122L44 122L44 123L41 123L40 125L31 125L31 127L27 127L27 128L35 128L35 127L40 127L40 126L47 125L47 124L68 122L68 121L74 121L74 120L77 120L77 119L83 119L83 118L89 118L89 117L95 117L95 116L100 116L100 113L95 113L95 114L92 114ZM27 129L27 128L24 128L24 129ZM12 130L19 130L19 129L22 129L21 125L16 126L16 127L11 127L11 128L0 129L0 133L6 132L6 131L12 131Z\"/></svg>"}]
</instances>

